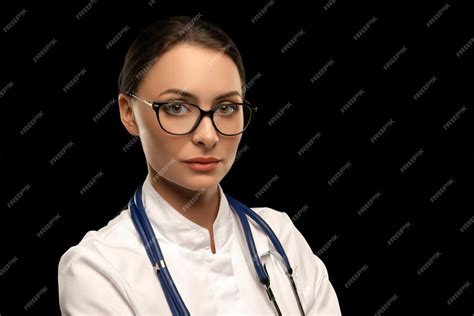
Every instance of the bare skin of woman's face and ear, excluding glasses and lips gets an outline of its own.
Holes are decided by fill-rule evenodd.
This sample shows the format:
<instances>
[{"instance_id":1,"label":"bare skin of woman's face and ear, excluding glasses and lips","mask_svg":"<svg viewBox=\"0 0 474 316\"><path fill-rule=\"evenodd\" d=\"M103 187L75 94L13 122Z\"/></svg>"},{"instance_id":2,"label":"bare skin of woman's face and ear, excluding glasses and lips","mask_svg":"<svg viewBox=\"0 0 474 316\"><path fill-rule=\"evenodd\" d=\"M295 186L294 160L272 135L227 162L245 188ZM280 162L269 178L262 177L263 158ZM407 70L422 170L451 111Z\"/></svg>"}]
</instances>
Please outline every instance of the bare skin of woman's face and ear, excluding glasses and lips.
<instances>
[{"instance_id":1,"label":"bare skin of woman's face and ear, excluding glasses and lips","mask_svg":"<svg viewBox=\"0 0 474 316\"><path fill-rule=\"evenodd\" d=\"M216 99L232 92L233 95ZM225 101L242 102L241 80L232 59L190 44L179 44L161 55L135 94L151 102L181 100L204 110ZM189 190L207 190L215 188L234 162L241 135L218 133L209 116L203 117L193 132L177 136L160 127L156 112L149 105L123 94L119 103L125 127L140 136L149 168L164 178L155 176L155 180L170 181ZM184 162L195 157L216 157L220 162L212 170L199 171Z\"/></svg>"}]
</instances>

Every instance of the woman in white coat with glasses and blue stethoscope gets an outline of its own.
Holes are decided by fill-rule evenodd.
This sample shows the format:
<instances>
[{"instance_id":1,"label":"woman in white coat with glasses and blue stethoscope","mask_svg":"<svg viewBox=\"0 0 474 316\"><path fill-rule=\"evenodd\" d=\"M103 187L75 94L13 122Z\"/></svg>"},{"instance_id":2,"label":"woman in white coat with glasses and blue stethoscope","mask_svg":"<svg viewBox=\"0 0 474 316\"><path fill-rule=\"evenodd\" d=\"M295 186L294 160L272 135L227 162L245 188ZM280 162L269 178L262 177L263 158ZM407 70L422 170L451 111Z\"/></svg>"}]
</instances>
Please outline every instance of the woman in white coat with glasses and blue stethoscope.
<instances>
[{"instance_id":1,"label":"woman in white coat with glasses and blue stethoscope","mask_svg":"<svg viewBox=\"0 0 474 316\"><path fill-rule=\"evenodd\" d=\"M61 257L62 313L339 315L324 264L288 215L247 211L271 227L280 254L256 220L249 239L248 208L219 184L256 111L233 41L202 19L158 21L132 43L119 89L148 175L126 210Z\"/></svg>"}]
</instances>

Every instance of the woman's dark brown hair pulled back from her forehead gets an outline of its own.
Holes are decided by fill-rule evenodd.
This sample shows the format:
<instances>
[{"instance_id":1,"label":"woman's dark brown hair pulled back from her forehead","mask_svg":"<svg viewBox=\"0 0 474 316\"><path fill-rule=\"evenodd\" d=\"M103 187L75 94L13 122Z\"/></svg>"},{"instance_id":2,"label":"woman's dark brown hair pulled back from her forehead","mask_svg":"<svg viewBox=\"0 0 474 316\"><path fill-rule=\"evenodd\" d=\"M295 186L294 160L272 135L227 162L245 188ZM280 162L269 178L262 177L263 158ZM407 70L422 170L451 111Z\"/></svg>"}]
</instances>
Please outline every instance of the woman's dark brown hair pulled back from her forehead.
<instances>
[{"instance_id":1,"label":"woman's dark brown hair pulled back from her forehead","mask_svg":"<svg viewBox=\"0 0 474 316\"><path fill-rule=\"evenodd\" d=\"M220 27L201 19L175 16L158 20L143 30L125 56L119 75L119 92L136 92L146 74L161 55L177 44L187 43L210 48L229 56L237 66L245 95L245 69L237 46Z\"/></svg>"}]
</instances>

